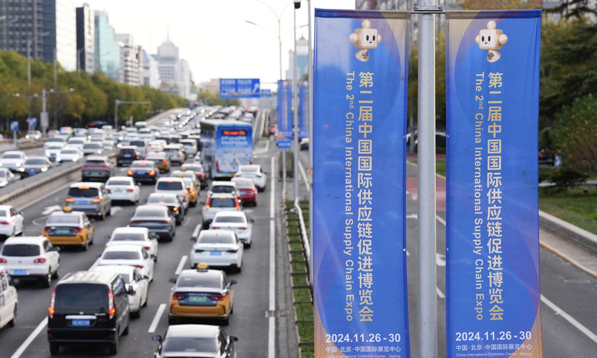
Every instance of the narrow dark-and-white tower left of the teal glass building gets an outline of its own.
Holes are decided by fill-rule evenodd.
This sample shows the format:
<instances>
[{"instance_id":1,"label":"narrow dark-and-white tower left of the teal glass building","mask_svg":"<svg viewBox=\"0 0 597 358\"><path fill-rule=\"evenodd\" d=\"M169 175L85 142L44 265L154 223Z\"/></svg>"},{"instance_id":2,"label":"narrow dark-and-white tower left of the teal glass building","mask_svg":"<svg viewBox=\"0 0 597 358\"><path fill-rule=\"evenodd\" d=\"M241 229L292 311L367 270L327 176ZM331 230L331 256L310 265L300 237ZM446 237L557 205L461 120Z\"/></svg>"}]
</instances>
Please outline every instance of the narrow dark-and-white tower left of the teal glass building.
<instances>
[{"instance_id":1,"label":"narrow dark-and-white tower left of the teal glass building","mask_svg":"<svg viewBox=\"0 0 597 358\"><path fill-rule=\"evenodd\" d=\"M96 49L96 22L94 14L89 4L85 3L82 7L76 8L76 51L78 66L87 73L93 73L94 54Z\"/></svg>"}]
</instances>

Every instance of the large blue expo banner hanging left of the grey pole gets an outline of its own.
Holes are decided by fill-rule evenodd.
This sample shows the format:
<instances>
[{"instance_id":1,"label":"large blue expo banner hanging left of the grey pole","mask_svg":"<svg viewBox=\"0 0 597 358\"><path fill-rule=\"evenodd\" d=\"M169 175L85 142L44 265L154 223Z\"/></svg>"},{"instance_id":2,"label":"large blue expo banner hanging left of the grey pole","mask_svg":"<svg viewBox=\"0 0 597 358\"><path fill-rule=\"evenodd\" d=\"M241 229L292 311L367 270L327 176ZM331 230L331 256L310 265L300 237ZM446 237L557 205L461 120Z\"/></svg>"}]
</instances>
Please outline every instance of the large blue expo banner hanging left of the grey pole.
<instances>
[{"instance_id":1,"label":"large blue expo banner hanging left of the grey pole","mask_svg":"<svg viewBox=\"0 0 597 358\"><path fill-rule=\"evenodd\" d=\"M315 357L410 356L410 12L315 10Z\"/></svg>"}]
</instances>

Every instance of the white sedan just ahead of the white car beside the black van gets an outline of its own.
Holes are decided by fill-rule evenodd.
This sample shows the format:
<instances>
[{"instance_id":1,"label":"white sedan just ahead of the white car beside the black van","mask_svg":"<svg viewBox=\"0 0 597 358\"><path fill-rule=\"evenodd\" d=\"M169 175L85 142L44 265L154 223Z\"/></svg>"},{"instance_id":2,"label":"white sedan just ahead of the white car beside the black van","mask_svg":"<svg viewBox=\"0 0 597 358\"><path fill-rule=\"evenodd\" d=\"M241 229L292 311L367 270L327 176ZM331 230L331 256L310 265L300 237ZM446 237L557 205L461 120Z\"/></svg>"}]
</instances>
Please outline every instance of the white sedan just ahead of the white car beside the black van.
<instances>
[{"instance_id":1,"label":"white sedan just ahead of the white car beside the black van","mask_svg":"<svg viewBox=\"0 0 597 358\"><path fill-rule=\"evenodd\" d=\"M134 266L141 276L153 280L153 257L147 254L140 245L109 245L102 254L97 255L100 260L94 266L125 265Z\"/></svg>"}]
</instances>

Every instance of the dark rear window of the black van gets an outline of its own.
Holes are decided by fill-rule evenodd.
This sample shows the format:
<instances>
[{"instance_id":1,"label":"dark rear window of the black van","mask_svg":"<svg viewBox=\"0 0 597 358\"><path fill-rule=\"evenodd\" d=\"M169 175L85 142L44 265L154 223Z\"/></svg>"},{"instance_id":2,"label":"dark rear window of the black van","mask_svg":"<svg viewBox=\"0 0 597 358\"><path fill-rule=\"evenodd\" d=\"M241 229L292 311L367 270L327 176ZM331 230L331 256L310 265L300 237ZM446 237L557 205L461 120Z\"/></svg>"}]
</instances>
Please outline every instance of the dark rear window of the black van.
<instances>
[{"instance_id":1,"label":"dark rear window of the black van","mask_svg":"<svg viewBox=\"0 0 597 358\"><path fill-rule=\"evenodd\" d=\"M57 314L83 311L87 314L108 310L108 288L96 283L64 283L56 286L54 310Z\"/></svg>"}]
</instances>

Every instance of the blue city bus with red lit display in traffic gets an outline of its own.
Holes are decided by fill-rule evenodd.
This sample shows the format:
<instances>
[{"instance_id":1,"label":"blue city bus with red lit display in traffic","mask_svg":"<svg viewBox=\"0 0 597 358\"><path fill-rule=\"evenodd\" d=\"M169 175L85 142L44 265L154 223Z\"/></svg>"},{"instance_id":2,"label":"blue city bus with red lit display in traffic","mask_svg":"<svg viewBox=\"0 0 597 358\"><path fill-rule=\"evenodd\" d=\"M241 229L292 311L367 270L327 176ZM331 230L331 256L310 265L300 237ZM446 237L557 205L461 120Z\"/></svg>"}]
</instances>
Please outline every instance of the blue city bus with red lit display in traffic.
<instances>
[{"instance_id":1,"label":"blue city bus with red lit display in traffic","mask_svg":"<svg viewBox=\"0 0 597 358\"><path fill-rule=\"evenodd\" d=\"M201 162L210 178L232 178L239 165L253 163L253 126L247 122L201 122Z\"/></svg>"}]
</instances>

